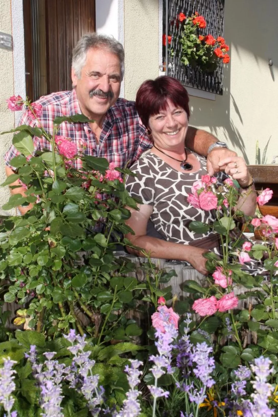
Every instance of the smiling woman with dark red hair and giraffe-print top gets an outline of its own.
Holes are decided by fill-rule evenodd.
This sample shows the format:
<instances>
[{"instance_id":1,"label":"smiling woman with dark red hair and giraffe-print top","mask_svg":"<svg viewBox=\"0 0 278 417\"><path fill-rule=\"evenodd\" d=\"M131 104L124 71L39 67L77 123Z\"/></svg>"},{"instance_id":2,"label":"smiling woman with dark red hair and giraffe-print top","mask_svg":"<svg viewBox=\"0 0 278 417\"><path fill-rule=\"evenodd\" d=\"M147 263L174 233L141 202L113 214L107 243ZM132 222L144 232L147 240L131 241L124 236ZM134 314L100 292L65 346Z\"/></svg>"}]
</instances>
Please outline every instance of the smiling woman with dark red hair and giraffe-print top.
<instances>
[{"instance_id":1,"label":"smiling woman with dark red hair and giraffe-print top","mask_svg":"<svg viewBox=\"0 0 278 417\"><path fill-rule=\"evenodd\" d=\"M151 256L189 262L202 274L206 274L203 253L218 252L218 238L214 232L195 234L188 229L192 220L210 223L213 214L189 206L187 196L193 183L206 171L206 158L186 148L188 129L188 94L178 80L158 77L145 81L136 95L136 108L153 141L153 148L146 151L131 167L136 174L128 176L126 188L132 197L139 197L139 211L131 210L127 221L135 235L126 237L135 245L150 252ZM228 176L240 185L238 206L247 216L253 216L256 194L253 179L243 158L225 159L225 173L219 173L222 183ZM147 236L147 223L151 220L166 240ZM128 249L138 254L134 250Z\"/></svg>"}]
</instances>

